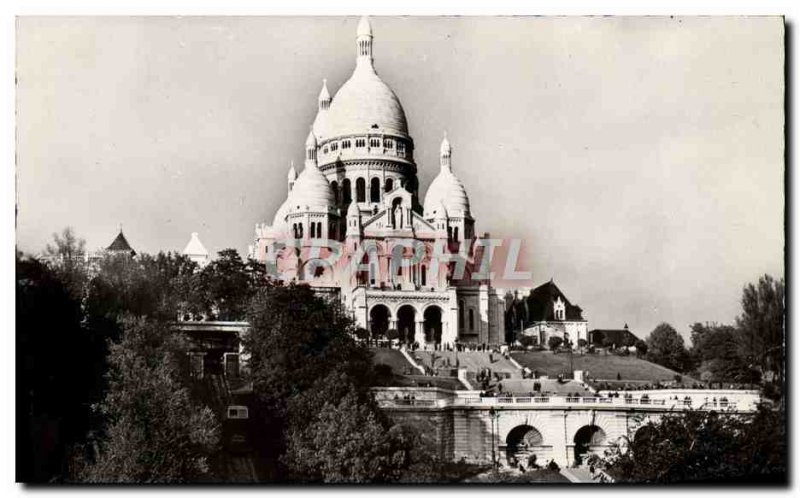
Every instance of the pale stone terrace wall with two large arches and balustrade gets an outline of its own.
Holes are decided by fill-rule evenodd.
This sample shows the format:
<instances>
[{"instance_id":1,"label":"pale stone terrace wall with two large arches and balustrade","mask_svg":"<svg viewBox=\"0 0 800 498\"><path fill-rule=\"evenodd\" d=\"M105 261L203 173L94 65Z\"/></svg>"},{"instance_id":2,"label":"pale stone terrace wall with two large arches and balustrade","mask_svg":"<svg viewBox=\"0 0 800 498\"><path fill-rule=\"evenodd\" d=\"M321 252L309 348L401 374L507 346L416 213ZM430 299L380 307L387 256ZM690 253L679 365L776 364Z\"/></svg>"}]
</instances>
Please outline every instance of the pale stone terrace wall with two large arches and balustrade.
<instances>
[{"instance_id":1,"label":"pale stone terrace wall with two large arches and balustrade","mask_svg":"<svg viewBox=\"0 0 800 498\"><path fill-rule=\"evenodd\" d=\"M424 391L424 392L423 392ZM409 402L403 394L412 392ZM432 444L447 458L503 465L550 460L574 466L590 454L602 455L624 437L634 438L648 421L681 410L752 413L756 391L636 391L630 398L563 396L480 398L475 392L442 389L376 389L380 406L396 423L428 427ZM607 394L607 393L599 393ZM394 396L398 396L395 399ZM494 448L494 455L492 452Z\"/></svg>"}]
</instances>

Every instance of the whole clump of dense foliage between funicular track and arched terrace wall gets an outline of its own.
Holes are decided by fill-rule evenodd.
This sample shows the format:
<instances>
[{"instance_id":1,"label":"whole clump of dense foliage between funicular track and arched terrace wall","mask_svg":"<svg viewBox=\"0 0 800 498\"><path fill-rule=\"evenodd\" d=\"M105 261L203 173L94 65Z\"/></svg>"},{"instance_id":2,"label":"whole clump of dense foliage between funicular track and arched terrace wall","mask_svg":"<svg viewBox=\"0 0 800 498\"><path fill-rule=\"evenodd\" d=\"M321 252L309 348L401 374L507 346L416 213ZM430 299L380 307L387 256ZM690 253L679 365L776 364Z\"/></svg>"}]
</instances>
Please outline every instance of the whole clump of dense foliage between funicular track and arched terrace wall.
<instances>
[{"instance_id":1,"label":"whole clump of dense foliage between funicular track and arched terrace wall","mask_svg":"<svg viewBox=\"0 0 800 498\"><path fill-rule=\"evenodd\" d=\"M385 482L406 461L369 392L371 355L340 304L306 286L261 289L248 313L264 454L292 480Z\"/></svg>"}]
</instances>

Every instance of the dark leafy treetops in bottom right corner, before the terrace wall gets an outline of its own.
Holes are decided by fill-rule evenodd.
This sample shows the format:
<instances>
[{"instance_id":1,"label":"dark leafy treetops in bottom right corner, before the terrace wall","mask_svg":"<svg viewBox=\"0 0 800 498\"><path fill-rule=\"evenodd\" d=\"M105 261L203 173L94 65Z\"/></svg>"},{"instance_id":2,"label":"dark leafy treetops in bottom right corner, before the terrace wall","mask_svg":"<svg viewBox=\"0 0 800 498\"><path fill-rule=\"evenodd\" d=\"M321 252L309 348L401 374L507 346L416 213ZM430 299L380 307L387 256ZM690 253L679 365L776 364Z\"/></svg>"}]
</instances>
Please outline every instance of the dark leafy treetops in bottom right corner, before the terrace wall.
<instances>
[{"instance_id":1,"label":"dark leafy treetops in bottom right corner, before the terrace wall","mask_svg":"<svg viewBox=\"0 0 800 498\"><path fill-rule=\"evenodd\" d=\"M592 460L617 482L785 482L785 422L763 406L748 417L671 413Z\"/></svg>"}]
</instances>

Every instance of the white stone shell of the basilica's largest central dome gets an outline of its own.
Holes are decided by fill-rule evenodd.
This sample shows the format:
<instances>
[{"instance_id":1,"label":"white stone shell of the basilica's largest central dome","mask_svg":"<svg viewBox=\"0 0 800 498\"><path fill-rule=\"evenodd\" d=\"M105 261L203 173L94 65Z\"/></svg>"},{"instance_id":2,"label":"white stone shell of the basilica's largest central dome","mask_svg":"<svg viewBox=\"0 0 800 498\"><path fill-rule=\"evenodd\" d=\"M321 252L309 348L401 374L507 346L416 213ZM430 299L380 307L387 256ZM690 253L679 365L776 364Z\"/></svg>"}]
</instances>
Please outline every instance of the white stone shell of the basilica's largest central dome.
<instances>
[{"instance_id":1,"label":"white stone shell of the basilica's largest central dome","mask_svg":"<svg viewBox=\"0 0 800 498\"><path fill-rule=\"evenodd\" d=\"M406 113L397 95L380 79L372 64L360 63L336 92L326 116L314 132L328 139L368 132L408 136ZM324 123L320 122L324 119Z\"/></svg>"}]
</instances>

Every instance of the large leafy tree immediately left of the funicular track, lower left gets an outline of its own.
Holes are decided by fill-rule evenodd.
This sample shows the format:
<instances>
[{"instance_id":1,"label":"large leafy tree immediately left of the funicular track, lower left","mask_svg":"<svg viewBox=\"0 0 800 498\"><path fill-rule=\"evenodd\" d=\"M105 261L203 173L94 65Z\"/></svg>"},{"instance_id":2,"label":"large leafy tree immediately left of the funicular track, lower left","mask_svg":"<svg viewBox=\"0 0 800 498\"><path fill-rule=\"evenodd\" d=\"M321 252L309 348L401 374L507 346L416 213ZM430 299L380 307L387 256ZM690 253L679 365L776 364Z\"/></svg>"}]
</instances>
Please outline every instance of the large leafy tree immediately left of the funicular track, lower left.
<instances>
[{"instance_id":1,"label":"large leafy tree immediately left of the funicular track, lower left","mask_svg":"<svg viewBox=\"0 0 800 498\"><path fill-rule=\"evenodd\" d=\"M185 345L145 318L125 318L110 348L107 420L99 451L83 471L94 483L187 483L210 476L220 424L193 402L185 383Z\"/></svg>"}]
</instances>

